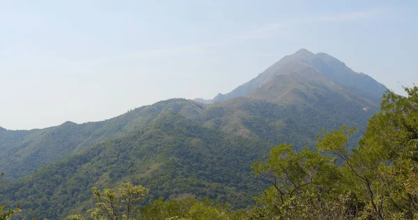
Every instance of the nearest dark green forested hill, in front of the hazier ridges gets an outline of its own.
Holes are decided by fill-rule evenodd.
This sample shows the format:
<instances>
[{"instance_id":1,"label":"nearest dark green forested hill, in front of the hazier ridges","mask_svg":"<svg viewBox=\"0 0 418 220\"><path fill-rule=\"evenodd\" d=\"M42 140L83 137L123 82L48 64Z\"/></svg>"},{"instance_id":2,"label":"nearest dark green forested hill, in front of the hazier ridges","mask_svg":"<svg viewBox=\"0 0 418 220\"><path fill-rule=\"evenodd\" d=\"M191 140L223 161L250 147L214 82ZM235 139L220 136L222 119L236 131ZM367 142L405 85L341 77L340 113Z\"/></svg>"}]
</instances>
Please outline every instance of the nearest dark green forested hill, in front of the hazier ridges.
<instances>
[{"instance_id":1,"label":"nearest dark green forested hill, in front of the hazier ridges","mask_svg":"<svg viewBox=\"0 0 418 220\"><path fill-rule=\"evenodd\" d=\"M91 187L130 181L150 188L151 199L193 194L242 207L258 191L249 167L271 147L163 111L136 132L10 182L1 202L22 204L21 217L61 219L91 205Z\"/></svg>"}]
</instances>

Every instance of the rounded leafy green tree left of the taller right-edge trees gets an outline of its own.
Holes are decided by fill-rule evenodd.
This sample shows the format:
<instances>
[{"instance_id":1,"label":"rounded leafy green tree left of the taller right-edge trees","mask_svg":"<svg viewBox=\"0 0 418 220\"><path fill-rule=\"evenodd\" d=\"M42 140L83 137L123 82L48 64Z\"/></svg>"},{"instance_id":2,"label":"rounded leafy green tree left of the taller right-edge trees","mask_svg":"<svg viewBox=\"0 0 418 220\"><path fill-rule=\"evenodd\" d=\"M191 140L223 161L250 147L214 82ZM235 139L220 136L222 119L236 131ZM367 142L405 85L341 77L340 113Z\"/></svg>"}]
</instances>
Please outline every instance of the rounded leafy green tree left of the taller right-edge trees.
<instances>
[{"instance_id":1,"label":"rounded leafy green tree left of the taller right-edge trees","mask_svg":"<svg viewBox=\"0 0 418 220\"><path fill-rule=\"evenodd\" d=\"M256 198L261 206L250 212L250 219L333 219L332 214L346 212L336 203L343 199L341 173L330 156L308 148L296 152L282 143L267 162L256 162L252 169L272 186Z\"/></svg>"}]
</instances>

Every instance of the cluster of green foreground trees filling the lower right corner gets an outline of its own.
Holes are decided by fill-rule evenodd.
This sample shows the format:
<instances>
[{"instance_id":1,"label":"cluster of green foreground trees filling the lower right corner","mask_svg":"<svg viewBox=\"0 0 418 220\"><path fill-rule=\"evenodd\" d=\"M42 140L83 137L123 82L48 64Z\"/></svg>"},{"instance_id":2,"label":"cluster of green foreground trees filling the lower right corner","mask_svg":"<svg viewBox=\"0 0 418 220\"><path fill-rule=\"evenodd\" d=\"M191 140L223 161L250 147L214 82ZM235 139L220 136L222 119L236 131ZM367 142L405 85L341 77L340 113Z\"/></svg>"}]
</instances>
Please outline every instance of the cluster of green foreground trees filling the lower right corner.
<instances>
[{"instance_id":1,"label":"cluster of green foreground trees filling the lower right corner","mask_svg":"<svg viewBox=\"0 0 418 220\"><path fill-rule=\"evenodd\" d=\"M388 92L357 148L355 129L318 136L319 151L297 153L282 144L258 162L271 187L257 198L257 219L417 219L418 87L408 97ZM335 158L343 161L336 166Z\"/></svg>"}]
</instances>

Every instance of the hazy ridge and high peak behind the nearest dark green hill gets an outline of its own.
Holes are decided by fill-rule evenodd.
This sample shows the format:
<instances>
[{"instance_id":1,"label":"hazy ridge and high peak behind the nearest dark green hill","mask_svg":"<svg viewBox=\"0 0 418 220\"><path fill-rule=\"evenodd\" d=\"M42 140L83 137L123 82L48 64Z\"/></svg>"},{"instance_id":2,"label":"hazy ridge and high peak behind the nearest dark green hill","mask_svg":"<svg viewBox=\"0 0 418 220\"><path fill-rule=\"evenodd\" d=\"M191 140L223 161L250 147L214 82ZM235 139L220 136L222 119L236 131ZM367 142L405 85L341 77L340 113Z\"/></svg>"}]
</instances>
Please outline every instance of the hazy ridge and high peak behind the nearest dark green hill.
<instances>
[{"instance_id":1,"label":"hazy ridge and high peak behind the nearest dark green hill","mask_svg":"<svg viewBox=\"0 0 418 220\"><path fill-rule=\"evenodd\" d=\"M324 127L356 126L360 136L378 112L385 90L332 56L301 49L226 95L227 101L210 106L172 99L95 123L67 122L30 131L0 127L0 171L7 174L6 180L24 177L95 144L137 132L162 111L232 135L313 146L312 139Z\"/></svg>"}]
</instances>

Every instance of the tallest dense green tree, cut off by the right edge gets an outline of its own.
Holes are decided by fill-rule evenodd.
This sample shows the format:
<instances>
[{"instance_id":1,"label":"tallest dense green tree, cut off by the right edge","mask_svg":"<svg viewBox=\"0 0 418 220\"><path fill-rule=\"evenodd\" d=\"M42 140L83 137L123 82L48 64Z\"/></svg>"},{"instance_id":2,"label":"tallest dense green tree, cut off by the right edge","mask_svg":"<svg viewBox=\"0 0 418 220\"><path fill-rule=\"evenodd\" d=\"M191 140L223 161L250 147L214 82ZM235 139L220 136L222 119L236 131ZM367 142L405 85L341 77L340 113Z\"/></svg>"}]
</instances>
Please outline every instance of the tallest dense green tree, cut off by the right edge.
<instances>
[{"instance_id":1,"label":"tallest dense green tree, cut off by the right edge","mask_svg":"<svg viewBox=\"0 0 418 220\"><path fill-rule=\"evenodd\" d=\"M371 156L379 158L379 178L390 189L385 194L382 215L396 213L412 219L418 217L418 87L405 88L405 92L407 97L391 91L383 95L380 113L369 120L359 150L380 150Z\"/></svg>"}]
</instances>

